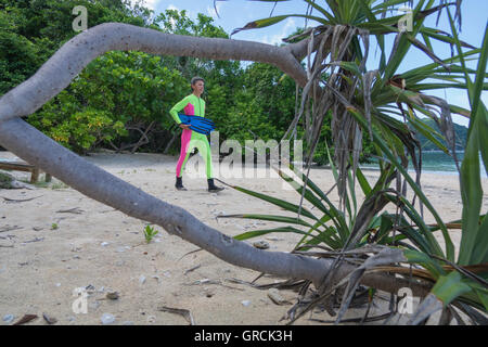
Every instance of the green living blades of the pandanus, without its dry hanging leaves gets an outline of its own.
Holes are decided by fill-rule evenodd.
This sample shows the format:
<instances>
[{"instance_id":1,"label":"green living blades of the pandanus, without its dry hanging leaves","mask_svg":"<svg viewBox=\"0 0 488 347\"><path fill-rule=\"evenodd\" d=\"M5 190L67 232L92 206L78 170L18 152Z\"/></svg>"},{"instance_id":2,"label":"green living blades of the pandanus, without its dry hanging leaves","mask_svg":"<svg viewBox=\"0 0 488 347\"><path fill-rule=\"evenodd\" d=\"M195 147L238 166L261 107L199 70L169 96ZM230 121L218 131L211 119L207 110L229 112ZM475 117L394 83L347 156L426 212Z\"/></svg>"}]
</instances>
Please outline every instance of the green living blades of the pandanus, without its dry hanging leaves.
<instances>
[{"instance_id":1,"label":"green living blades of the pandanus, without its dry hanging leaves","mask_svg":"<svg viewBox=\"0 0 488 347\"><path fill-rule=\"evenodd\" d=\"M323 25L322 30L325 30L326 26L347 24L357 28L368 29L369 33L365 35L376 36L381 50L381 61L377 70L372 73L362 70L360 66L361 59L365 55L365 52L359 44L359 38L356 41L350 41L349 50L351 55L346 56L347 61L338 63L338 66L341 66L339 73L345 76L346 83L339 85L341 88L334 90L334 95L337 97L334 107L345 107L358 126L362 128L362 131L369 134L369 144L380 158L380 177L374 185L370 185L360 169L352 170L355 166L351 165L352 160L349 158L345 169L347 182L341 193L341 197L344 201L342 205L344 209L342 209L330 204L323 192L312 181L309 180L307 184L309 189L306 189L303 183L297 182L292 177L281 175L300 193L301 198L312 203L317 207L317 211L323 213L322 217L320 214L310 216L309 211L287 202L278 201L273 197L235 187L242 192L268 201L282 208L284 206L293 206L288 210L294 211L298 217L294 221L290 220L292 218L290 216L286 218L284 216L259 215L237 215L233 217L273 220L299 224L308 229L304 231L295 228L295 226L287 226L275 230L251 231L237 237L246 239L267 232L286 231L300 234L305 232L307 234L297 246L320 245L324 249L341 250L358 248L365 243L381 243L395 247L401 246L404 249L403 254L408 261L422 266L422 277L424 279L428 278L435 283L431 293L442 301L444 307L450 304L463 303L487 311L488 217L486 214L480 215L483 188L480 184L481 163L479 158L483 159L485 169L488 171L488 138L486 137L488 131L488 112L480 99L481 91L487 89L485 80L488 76L486 74L488 26L485 29L481 49L476 49L460 41L458 38L458 30L449 10L449 7L453 5L453 3L439 1L439 5L435 7L435 1L418 1L412 12L412 30L399 33L397 24L400 16L388 17L387 8L391 4L402 4L407 1L344 0L338 2L331 0L326 1L326 8L322 8L316 1L305 0L305 2L317 10L316 13L320 13L323 17L317 18L308 14L280 15L251 22L237 30L266 27L290 16L305 16L320 22ZM459 5L460 1L457 3L457 11L459 11ZM424 26L425 17L439 11L447 12L452 35ZM455 15L460 18L460 13L457 12ZM395 44L388 60L386 59L387 52L384 44L384 35L387 34L396 35ZM306 37L303 36L301 38ZM422 39L424 43L416 37ZM458 55L440 60L432 50L434 46L431 40L455 46ZM339 42L337 46L339 46ZM471 50L463 51L462 48ZM399 74L399 66L408 59L408 52L411 49L421 50L434 63ZM465 61L472 59L473 55L478 59L476 70L467 68L465 64ZM314 64L320 66L323 62L319 61L314 62ZM474 81L471 79L473 75L475 75ZM373 78L370 78L371 76ZM356 85L350 83L351 77L358 78L357 88ZM370 82L367 83L367 80L370 80ZM328 81L323 80L322 82L326 83ZM349 86L355 87L349 89ZM470 97L471 112L450 105L440 98L428 97L429 90L440 88L466 90ZM354 97L350 98L350 95ZM450 152L451 140L449 138L450 133L455 130L450 125L451 113L470 116L470 127L465 134L466 141L463 146L465 156L460 172L460 190L463 198L462 219L446 223L425 196L421 187L407 171L407 164L408 156L410 155L414 158L415 150L421 145L414 141L413 131L428 139L444 152ZM395 115L402 116L406 124L398 121ZM435 129L436 127L433 127L432 123L422 121L420 115L435 119L440 125L440 131L438 128ZM334 133L334 136L344 136L344 133ZM337 180L336 164L331 160L336 183L342 184L342 181ZM420 168L418 169L420 170ZM304 178L300 172L295 171L295 175L298 178ZM352 177L358 179L365 195L364 201L359 206L356 200L355 180L351 179ZM394 179L397 179L397 190L389 187ZM301 180L305 181L304 179ZM423 206L434 216L436 224L427 226L414 204L407 200L400 189L403 183L402 180L409 184ZM397 207L397 213L380 214L390 203ZM307 220L307 218L310 220ZM316 223L310 227L314 221ZM455 259L454 245L448 229L459 228L459 226L462 226L462 237L459 257ZM439 236L442 243L434 236L436 232L441 233ZM404 242L406 240L408 242ZM333 254L324 253L323 256L333 256ZM388 271L401 273L400 269L396 271L391 268ZM321 297L321 300L324 299L325 297ZM457 305L457 307L459 306ZM424 310L426 317L428 317L432 313L432 311L428 311L429 309L431 307L421 306L418 313L423 314ZM450 309L453 309L453 306L450 306ZM476 316L471 314L468 309L462 308L462 310L473 321L481 321Z\"/></svg>"}]
</instances>

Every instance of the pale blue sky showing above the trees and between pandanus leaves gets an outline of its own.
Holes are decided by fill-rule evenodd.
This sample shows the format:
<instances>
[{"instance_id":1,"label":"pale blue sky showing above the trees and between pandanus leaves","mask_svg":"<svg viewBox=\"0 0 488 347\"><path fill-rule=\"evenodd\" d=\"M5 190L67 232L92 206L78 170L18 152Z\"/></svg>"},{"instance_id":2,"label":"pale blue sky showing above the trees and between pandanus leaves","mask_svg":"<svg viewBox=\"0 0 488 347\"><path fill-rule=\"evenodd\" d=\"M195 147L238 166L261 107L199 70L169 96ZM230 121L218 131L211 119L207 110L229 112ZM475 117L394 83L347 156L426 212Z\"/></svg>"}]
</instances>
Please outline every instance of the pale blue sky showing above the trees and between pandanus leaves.
<instances>
[{"instance_id":1,"label":"pale blue sky showing above the trees and between pandanus leaves","mask_svg":"<svg viewBox=\"0 0 488 347\"><path fill-rule=\"evenodd\" d=\"M136 0L132 0L136 1ZM318 3L320 4L321 1ZM325 3L325 1L323 1ZM416 1L414 1L416 3ZM248 0L229 0L217 1L216 7L219 16L217 16L214 9L213 0L145 0L147 8L154 10L157 15L167 9L187 10L191 18L195 18L197 13L204 13L214 18L214 24L221 26L227 33L231 33L233 29L243 27L248 22L254 20L268 17L273 11L273 15L280 14L305 14L306 2L303 0L291 0L282 3L278 3L273 10L272 2L248 1ZM396 14L396 13L395 13ZM436 26L436 14L432 15L426 25L431 27ZM485 26L488 20L488 1L487 0L464 0L462 2L462 31L460 38L475 47L480 47L483 35L485 33ZM309 26L313 23L309 23ZM281 39L291 35L297 27L304 27L305 20L298 17L287 18L277 25L255 30L245 30L235 34L232 38L237 40L252 40L264 43L277 44L281 43ZM450 33L450 26L447 21L446 13L442 14L438 25L439 29ZM390 36L393 41L394 36ZM387 41L388 42L388 41ZM387 46L388 47L388 46ZM434 47L436 53L446 59L450 56L450 47L448 44L439 44ZM412 50L409 54L409 59L400 66L399 72L410 69L415 66L431 63L431 59L424 53ZM370 54L374 57L375 49L371 48ZM472 63L474 67L476 62ZM372 60L372 66L374 68L374 59ZM464 91L432 91L432 94L447 99L449 103L457 104L468 108L467 95ZM488 93L484 92L484 102L488 104ZM453 116L454 121L463 125L467 125L467 119L463 117Z\"/></svg>"}]
</instances>

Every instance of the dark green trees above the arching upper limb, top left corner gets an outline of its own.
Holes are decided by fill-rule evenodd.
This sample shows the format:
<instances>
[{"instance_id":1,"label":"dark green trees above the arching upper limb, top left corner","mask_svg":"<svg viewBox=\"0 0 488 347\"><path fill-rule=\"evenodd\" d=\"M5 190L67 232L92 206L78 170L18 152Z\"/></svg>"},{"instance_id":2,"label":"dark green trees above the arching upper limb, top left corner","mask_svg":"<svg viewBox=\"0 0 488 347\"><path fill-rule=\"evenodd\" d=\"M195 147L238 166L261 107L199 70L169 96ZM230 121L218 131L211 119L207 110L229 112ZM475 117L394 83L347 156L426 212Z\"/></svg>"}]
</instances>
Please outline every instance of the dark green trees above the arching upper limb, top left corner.
<instances>
[{"instance_id":1,"label":"dark green trees above the arching upper limb, top left corner","mask_svg":"<svg viewBox=\"0 0 488 347\"><path fill-rule=\"evenodd\" d=\"M129 4L127 0L0 2L0 95L30 77L78 34L72 27L75 7L87 8L88 27L106 22L149 26L150 10Z\"/></svg>"}]
</instances>

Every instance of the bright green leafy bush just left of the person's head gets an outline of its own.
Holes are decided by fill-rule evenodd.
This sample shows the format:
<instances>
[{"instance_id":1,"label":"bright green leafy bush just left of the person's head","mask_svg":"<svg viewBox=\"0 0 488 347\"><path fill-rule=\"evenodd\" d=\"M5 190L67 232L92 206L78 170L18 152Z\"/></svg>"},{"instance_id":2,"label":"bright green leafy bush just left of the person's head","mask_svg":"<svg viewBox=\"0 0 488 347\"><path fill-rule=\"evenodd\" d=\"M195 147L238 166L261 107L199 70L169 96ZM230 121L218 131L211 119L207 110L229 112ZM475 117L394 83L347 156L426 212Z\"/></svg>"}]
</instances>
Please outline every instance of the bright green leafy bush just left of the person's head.
<instances>
[{"instance_id":1,"label":"bright green leafy bush just left of the person's head","mask_svg":"<svg viewBox=\"0 0 488 347\"><path fill-rule=\"evenodd\" d=\"M144 129L154 121L156 129L170 129L174 120L169 108L185 85L179 72L164 66L159 56L141 52L108 52L87 66L80 77L76 93L127 128ZM112 142L119 146L140 137L138 131L126 134Z\"/></svg>"}]
</instances>

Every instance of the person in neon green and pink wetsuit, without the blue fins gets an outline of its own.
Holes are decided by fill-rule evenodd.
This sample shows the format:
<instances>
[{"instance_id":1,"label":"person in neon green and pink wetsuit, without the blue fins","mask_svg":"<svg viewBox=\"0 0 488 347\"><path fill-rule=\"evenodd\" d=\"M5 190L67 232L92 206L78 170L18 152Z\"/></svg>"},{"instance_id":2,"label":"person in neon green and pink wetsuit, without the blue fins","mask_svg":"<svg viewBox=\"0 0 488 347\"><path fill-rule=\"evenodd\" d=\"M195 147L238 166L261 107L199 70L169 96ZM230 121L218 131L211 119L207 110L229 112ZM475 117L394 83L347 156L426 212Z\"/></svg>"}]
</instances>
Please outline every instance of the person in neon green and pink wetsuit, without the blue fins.
<instances>
[{"instance_id":1,"label":"person in neon green and pink wetsuit, without the blue fins","mask_svg":"<svg viewBox=\"0 0 488 347\"><path fill-rule=\"evenodd\" d=\"M182 181L182 172L184 171L184 166L190 157L190 153L192 153L193 149L197 149L200 155L205 160L206 166L206 175L208 182L208 191L209 192L220 192L223 190L221 187L217 187L214 183L214 168L211 165L211 152L210 145L208 144L208 139L205 134L198 133L196 131L192 131L189 125L184 125L181 123L180 117L178 116L178 112L183 111L185 115L189 116L200 116L205 117L205 101L201 98L202 93L205 89L205 81L202 77L193 77L191 80L192 93L180 102L178 102L169 111L169 114L172 116L175 121L183 129L181 133L181 151L180 157L177 163L176 168L176 189L179 191L185 191L187 189L183 187Z\"/></svg>"}]
</instances>

